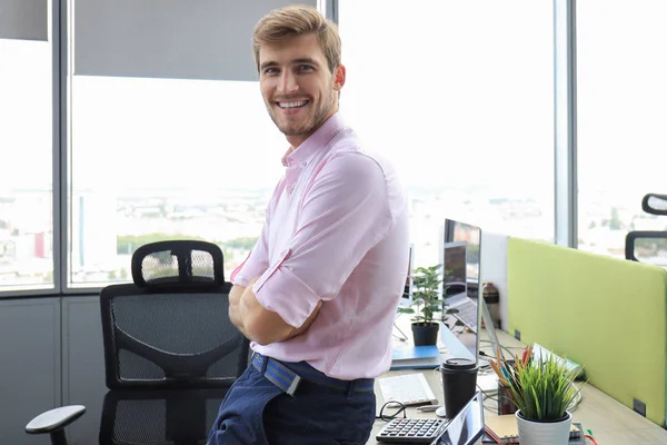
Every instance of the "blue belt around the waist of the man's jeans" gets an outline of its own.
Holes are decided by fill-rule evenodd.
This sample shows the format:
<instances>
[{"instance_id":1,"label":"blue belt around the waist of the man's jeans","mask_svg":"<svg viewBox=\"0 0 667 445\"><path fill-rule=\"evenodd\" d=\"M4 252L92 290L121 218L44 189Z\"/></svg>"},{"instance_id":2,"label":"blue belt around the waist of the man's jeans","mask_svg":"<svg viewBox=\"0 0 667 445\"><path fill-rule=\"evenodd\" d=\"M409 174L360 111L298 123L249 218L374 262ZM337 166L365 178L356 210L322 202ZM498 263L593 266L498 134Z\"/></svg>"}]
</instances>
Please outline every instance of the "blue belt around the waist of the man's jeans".
<instances>
[{"instance_id":1,"label":"blue belt around the waist of the man's jeans","mask_svg":"<svg viewBox=\"0 0 667 445\"><path fill-rule=\"evenodd\" d=\"M340 389L348 394L372 392L375 385L375 379L372 378L340 380L320 373L305 362L290 363L288 365L259 353L252 353L252 366L255 366L255 368L269 382L290 396L293 396L301 380Z\"/></svg>"}]
</instances>

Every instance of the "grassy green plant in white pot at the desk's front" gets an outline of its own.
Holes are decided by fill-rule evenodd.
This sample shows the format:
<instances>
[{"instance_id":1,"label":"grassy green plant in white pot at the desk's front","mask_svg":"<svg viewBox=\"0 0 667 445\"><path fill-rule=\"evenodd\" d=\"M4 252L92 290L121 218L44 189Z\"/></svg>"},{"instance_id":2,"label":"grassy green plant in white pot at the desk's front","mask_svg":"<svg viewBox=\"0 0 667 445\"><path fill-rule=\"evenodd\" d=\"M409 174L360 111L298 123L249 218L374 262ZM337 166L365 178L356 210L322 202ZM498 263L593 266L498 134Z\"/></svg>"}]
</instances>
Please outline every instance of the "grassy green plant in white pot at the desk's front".
<instances>
[{"instance_id":1,"label":"grassy green plant in white pot at the desk's front","mask_svg":"<svg viewBox=\"0 0 667 445\"><path fill-rule=\"evenodd\" d=\"M496 357L489 360L491 367L518 408L519 443L567 445L573 419L568 408L579 396L575 379L580 369L567 369L554 354L534 359L530 346L511 362L502 360L499 352Z\"/></svg>"}]
</instances>

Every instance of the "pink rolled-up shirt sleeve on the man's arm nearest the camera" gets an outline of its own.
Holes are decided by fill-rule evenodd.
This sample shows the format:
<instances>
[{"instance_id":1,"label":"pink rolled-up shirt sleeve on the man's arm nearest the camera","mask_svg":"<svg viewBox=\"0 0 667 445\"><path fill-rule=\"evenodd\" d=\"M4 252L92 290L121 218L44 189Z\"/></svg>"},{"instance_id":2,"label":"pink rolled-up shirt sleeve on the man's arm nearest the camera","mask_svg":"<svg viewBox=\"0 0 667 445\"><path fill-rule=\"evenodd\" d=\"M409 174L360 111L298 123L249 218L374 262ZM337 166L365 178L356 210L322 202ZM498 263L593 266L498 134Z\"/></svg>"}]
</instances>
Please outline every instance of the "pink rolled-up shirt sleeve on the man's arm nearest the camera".
<instances>
[{"instance_id":1,"label":"pink rolled-up shirt sleeve on the man's arm nearest the camera","mask_svg":"<svg viewBox=\"0 0 667 445\"><path fill-rule=\"evenodd\" d=\"M334 155L301 196L289 247L255 284L258 301L301 326L320 299L339 294L392 225L387 180L377 161L360 152Z\"/></svg>"}]
</instances>

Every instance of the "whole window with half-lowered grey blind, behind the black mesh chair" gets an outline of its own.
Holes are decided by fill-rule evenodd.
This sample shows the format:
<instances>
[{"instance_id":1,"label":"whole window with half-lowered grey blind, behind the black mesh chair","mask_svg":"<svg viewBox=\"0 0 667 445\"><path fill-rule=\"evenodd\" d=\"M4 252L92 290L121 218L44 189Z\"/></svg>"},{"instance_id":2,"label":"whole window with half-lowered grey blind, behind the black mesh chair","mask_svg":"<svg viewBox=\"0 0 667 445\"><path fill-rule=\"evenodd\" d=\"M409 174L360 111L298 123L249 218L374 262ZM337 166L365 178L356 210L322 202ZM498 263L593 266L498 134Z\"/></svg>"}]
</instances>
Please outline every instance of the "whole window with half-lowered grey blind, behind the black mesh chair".
<instances>
[{"instance_id":1,"label":"whole window with half-lowered grey blind, behind the black mesh chair","mask_svg":"<svg viewBox=\"0 0 667 445\"><path fill-rule=\"evenodd\" d=\"M217 10L225 2L71 3L68 286L131 280L137 247L172 238L218 244L229 279L283 171L287 142L250 44L256 21L281 2L235 3L233 14ZM230 49L225 32L242 43Z\"/></svg>"}]
</instances>

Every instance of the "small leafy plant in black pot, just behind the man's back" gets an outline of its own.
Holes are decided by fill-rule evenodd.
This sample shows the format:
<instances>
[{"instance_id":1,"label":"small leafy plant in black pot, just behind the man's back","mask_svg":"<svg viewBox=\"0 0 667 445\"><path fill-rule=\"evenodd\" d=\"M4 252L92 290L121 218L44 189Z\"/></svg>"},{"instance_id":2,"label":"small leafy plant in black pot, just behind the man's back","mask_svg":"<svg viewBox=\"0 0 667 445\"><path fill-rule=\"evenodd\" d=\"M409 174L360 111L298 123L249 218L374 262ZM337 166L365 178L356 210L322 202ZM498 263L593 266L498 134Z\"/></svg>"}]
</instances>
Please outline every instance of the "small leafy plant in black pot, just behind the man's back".
<instances>
[{"instance_id":1,"label":"small leafy plant in black pot, just behind the man's back","mask_svg":"<svg viewBox=\"0 0 667 445\"><path fill-rule=\"evenodd\" d=\"M412 317L415 346L435 345L438 342L439 324L434 314L442 310L438 290L442 279L439 270L442 265L417 267L412 271L412 307L399 308L401 314L416 314Z\"/></svg>"}]
</instances>

